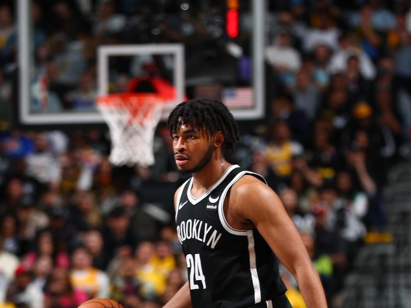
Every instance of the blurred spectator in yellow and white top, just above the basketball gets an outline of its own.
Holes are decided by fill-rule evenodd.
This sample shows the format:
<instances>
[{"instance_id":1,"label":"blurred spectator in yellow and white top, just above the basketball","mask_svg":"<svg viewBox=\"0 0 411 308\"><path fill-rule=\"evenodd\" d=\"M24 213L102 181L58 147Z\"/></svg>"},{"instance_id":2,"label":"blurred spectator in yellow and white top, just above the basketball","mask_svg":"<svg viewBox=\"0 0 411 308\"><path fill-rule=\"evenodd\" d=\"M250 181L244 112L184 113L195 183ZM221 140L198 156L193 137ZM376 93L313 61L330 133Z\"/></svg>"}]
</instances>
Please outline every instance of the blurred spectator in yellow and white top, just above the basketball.
<instances>
[{"instance_id":1,"label":"blurred spectator in yellow and white top, just above the basketball","mask_svg":"<svg viewBox=\"0 0 411 308\"><path fill-rule=\"evenodd\" d=\"M70 280L74 290L85 291L88 299L109 297L108 276L92 266L92 255L87 248L74 248L71 260Z\"/></svg>"}]
</instances>

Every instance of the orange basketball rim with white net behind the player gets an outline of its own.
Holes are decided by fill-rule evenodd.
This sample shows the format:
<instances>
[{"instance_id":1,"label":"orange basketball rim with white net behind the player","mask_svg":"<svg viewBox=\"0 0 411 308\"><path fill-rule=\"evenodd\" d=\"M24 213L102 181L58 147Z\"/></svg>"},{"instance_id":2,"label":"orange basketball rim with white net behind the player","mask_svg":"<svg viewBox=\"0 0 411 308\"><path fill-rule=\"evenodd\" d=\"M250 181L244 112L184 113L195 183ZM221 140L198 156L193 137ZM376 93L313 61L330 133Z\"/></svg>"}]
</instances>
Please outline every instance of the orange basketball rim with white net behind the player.
<instances>
[{"instance_id":1,"label":"orange basketball rim with white net behind the player","mask_svg":"<svg viewBox=\"0 0 411 308\"><path fill-rule=\"evenodd\" d=\"M110 131L110 163L154 164L154 131L163 106L164 100L156 93L108 94L97 99L97 109Z\"/></svg>"}]
</instances>

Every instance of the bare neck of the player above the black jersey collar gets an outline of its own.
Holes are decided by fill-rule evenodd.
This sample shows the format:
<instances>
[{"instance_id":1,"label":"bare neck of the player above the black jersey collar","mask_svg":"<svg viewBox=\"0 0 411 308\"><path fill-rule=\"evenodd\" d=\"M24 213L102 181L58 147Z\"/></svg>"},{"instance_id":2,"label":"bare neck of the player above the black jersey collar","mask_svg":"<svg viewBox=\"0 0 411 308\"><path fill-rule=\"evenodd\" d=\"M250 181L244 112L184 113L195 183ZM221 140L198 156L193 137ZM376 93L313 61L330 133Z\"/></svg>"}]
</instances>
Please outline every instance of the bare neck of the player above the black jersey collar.
<instances>
[{"instance_id":1,"label":"bare neck of the player above the black jersey collar","mask_svg":"<svg viewBox=\"0 0 411 308\"><path fill-rule=\"evenodd\" d=\"M213 186L231 164L224 158L212 158L201 170L193 174L192 194L201 195Z\"/></svg>"}]
</instances>

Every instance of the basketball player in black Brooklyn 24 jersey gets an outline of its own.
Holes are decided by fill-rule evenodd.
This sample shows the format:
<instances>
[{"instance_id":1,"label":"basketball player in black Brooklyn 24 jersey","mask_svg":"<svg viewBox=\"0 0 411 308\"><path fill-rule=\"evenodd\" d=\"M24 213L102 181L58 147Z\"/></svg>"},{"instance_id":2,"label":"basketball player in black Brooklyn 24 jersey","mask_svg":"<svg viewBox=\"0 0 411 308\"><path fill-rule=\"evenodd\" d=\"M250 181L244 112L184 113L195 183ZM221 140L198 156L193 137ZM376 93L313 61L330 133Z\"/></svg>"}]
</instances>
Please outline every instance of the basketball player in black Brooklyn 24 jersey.
<instances>
[{"instance_id":1,"label":"basketball player in black Brooklyn 24 jersey","mask_svg":"<svg viewBox=\"0 0 411 308\"><path fill-rule=\"evenodd\" d=\"M189 281L164 308L291 307L277 257L307 307L326 307L319 276L275 192L223 156L222 147L239 139L227 107L212 99L186 101L167 126L178 169L193 176L175 194Z\"/></svg>"}]
</instances>

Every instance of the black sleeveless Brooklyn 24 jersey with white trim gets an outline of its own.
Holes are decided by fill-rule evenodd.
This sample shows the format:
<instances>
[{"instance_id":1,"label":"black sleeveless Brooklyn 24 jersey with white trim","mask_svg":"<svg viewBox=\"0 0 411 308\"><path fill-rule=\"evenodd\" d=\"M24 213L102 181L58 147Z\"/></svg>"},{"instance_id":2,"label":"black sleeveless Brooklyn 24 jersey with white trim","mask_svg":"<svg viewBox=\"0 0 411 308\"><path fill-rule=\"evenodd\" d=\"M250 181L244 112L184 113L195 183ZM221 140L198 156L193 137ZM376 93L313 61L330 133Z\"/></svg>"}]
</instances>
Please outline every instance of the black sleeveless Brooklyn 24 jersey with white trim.
<instances>
[{"instance_id":1,"label":"black sleeveless Brooklyn 24 jersey with white trim","mask_svg":"<svg viewBox=\"0 0 411 308\"><path fill-rule=\"evenodd\" d=\"M193 308L291 307L269 245L256 229L232 228L223 213L229 189L244 175L265 182L232 165L198 198L191 195L193 178L178 192L177 234L187 262Z\"/></svg>"}]
</instances>

